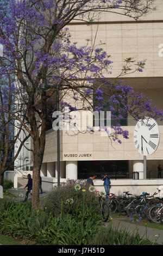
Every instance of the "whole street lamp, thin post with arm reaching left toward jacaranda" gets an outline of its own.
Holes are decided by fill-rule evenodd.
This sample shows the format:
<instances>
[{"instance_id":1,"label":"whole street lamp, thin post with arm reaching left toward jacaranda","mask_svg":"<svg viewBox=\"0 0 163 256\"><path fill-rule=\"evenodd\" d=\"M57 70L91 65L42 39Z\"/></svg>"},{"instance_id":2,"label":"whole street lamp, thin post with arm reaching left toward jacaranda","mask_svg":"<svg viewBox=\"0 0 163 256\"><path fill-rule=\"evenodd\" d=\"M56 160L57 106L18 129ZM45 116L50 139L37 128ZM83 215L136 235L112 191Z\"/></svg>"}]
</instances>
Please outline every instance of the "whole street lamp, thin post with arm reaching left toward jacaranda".
<instances>
[{"instance_id":1,"label":"whole street lamp, thin post with arm reaching left toward jacaranda","mask_svg":"<svg viewBox=\"0 0 163 256\"><path fill-rule=\"evenodd\" d=\"M50 86L46 83L40 84L41 90L57 89L57 111L59 111L59 86ZM59 112L58 112L59 113ZM59 122L59 121L58 121ZM58 124L59 128L59 124ZM58 169L58 186L60 185L60 141L59 141L59 129L57 129L57 169Z\"/></svg>"}]
</instances>

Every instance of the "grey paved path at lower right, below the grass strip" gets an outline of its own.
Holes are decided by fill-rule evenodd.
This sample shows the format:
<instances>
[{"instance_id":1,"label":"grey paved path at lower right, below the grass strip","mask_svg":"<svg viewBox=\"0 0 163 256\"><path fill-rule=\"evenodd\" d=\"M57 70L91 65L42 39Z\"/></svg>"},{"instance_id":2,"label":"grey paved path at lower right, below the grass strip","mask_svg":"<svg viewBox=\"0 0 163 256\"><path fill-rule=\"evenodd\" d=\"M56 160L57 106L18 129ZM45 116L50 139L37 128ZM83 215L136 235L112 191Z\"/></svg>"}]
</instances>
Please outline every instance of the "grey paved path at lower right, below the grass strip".
<instances>
[{"instance_id":1,"label":"grey paved path at lower right, below the grass strip","mask_svg":"<svg viewBox=\"0 0 163 256\"><path fill-rule=\"evenodd\" d=\"M127 230L131 235L135 235L136 234L136 224L134 223L128 223L122 220L118 220L118 219L113 219L112 223L114 225L114 227L118 228L118 230ZM107 225L108 223L106 223ZM138 232L140 235L140 238L143 237L143 239L146 239L146 227L143 227L141 225L137 225L138 228ZM156 243L159 243L159 245L163 245L163 230L160 229L153 229L153 228L149 228L147 227L147 239L150 241L154 241Z\"/></svg>"}]
</instances>

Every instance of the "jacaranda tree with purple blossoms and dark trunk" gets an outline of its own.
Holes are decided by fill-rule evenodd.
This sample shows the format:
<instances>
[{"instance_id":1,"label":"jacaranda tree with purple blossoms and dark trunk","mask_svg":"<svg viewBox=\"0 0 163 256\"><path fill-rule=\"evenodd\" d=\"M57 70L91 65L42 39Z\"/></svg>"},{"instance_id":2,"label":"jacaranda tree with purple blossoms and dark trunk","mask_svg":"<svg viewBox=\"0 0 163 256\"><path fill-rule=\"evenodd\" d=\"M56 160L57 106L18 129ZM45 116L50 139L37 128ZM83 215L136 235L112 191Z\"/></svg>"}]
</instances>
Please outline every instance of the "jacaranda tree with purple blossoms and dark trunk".
<instances>
[{"instance_id":1,"label":"jacaranda tree with purple blossoms and dark trunk","mask_svg":"<svg viewBox=\"0 0 163 256\"><path fill-rule=\"evenodd\" d=\"M39 178L40 168L45 149L45 132L47 130L48 106L51 102L53 90L40 90L40 83L58 84L64 93L71 92L73 100L84 101L83 107L91 105L90 100L96 97L96 109L99 111L107 101L110 103L112 117L132 114L140 118L144 114L153 114L152 102L143 95L135 94L133 89L122 81L111 83L104 77L110 72L111 60L101 46L78 47L71 43L67 25L72 20L82 20L91 23L98 13L114 12L133 17L137 20L153 10L153 0L1 0L0 10L0 43L4 46L3 61L9 65L0 66L0 75L10 72L15 77L15 87L18 89L16 113L12 113L16 120L25 127L33 139L33 197L34 209L39 206ZM131 70L142 71L143 62L136 63L130 68L131 59L126 60L122 73ZM97 83L96 83L97 82ZM99 82L101 84L99 85ZM126 101L127 95L132 101ZM114 113L114 105L121 108ZM65 99L61 99L61 107L68 106L71 110L78 107L70 106ZM80 104L81 106L81 104ZM155 117L162 115L156 111ZM28 125L26 125L28 123ZM128 138L128 132L123 131L119 124L114 127L112 135ZM119 141L120 142L120 141ZM120 142L121 143L121 142Z\"/></svg>"}]
</instances>

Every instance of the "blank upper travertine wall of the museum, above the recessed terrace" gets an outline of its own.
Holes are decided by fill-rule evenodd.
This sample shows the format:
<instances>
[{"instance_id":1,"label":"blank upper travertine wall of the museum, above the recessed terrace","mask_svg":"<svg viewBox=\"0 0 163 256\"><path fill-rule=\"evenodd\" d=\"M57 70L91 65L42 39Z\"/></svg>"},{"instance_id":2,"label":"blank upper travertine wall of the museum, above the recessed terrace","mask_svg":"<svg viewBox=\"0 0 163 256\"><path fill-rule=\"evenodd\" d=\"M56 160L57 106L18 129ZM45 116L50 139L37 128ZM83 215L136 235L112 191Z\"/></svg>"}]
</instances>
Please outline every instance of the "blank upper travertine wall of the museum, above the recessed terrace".
<instances>
[{"instance_id":1,"label":"blank upper travertine wall of the museum, above the recessed terrace","mask_svg":"<svg viewBox=\"0 0 163 256\"><path fill-rule=\"evenodd\" d=\"M124 59L134 57L136 61L147 59L145 71L127 75L127 77L158 77L163 74L163 57L159 57L159 45L163 44L163 2L155 1L157 9L141 21L134 21L126 16L105 13L101 15L99 24L87 26L80 22L68 26L72 34L72 42L78 45L86 44L86 39L95 39L105 43L102 47L111 54L112 74L108 77L116 77L120 74Z\"/></svg>"}]
</instances>

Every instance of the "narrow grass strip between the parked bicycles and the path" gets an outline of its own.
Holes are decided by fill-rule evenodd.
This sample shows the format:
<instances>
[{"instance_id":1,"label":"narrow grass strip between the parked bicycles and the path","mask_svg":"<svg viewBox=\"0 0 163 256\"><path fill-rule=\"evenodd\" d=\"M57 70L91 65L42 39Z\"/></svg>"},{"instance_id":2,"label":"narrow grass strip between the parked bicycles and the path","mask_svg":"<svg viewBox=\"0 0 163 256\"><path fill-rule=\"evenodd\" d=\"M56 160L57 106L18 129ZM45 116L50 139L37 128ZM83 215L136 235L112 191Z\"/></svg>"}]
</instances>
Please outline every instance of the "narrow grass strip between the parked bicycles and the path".
<instances>
[{"instance_id":1,"label":"narrow grass strip between the parked bicycles and the path","mask_svg":"<svg viewBox=\"0 0 163 256\"><path fill-rule=\"evenodd\" d=\"M115 214L112 214L110 217L112 217L113 219L115 218L117 220L124 221L124 222L133 223L130 221L129 217L125 214L118 214L116 212ZM137 222L137 225L142 225L144 227L146 224L148 228L163 230L163 225L160 223L149 222L148 220L141 220L140 222Z\"/></svg>"}]
</instances>

